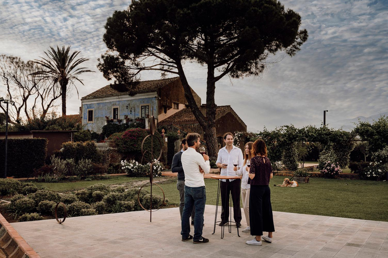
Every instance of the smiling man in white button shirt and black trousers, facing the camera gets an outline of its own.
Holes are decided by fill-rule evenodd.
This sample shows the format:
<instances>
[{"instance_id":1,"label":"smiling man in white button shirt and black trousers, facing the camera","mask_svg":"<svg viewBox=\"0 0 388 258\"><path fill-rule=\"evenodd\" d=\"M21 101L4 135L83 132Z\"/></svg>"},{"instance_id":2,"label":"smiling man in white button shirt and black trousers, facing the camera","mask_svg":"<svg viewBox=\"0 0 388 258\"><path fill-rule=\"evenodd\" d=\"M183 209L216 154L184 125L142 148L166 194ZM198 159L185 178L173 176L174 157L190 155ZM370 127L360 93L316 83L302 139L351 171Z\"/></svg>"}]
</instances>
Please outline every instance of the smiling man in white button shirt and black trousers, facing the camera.
<instances>
[{"instance_id":1,"label":"smiling man in white button shirt and black trousers, facing the camera","mask_svg":"<svg viewBox=\"0 0 388 258\"><path fill-rule=\"evenodd\" d=\"M217 167L221 168L221 175L236 175L233 170L233 160L237 160L239 167L243 166L243 152L240 148L233 146L233 134L224 134L225 147L218 151ZM240 209L240 183L241 179L221 179L221 222L220 226L227 225L229 221L229 196L232 194L233 218L236 227L241 227Z\"/></svg>"}]
</instances>

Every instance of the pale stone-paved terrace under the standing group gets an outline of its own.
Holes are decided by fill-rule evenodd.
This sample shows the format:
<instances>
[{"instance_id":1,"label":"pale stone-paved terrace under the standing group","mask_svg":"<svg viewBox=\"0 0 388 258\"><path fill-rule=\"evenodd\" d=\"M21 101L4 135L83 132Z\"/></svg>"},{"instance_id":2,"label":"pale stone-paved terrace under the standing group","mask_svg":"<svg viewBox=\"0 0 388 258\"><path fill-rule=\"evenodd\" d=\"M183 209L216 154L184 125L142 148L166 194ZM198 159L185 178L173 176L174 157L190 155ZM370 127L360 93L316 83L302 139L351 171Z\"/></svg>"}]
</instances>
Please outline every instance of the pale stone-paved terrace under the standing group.
<instances>
[{"instance_id":1,"label":"pale stone-paved terrace under the standing group","mask_svg":"<svg viewBox=\"0 0 388 258\"><path fill-rule=\"evenodd\" d=\"M208 197L212 198L212 197ZM209 243L182 242L179 209L162 209L18 222L11 225L41 257L388 257L388 222L274 212L273 242L245 243L249 233L236 228L220 239L213 232L215 206L205 209L203 235ZM220 214L220 213L219 213ZM246 224L243 214L243 228ZM191 230L193 227L191 226Z\"/></svg>"}]
</instances>

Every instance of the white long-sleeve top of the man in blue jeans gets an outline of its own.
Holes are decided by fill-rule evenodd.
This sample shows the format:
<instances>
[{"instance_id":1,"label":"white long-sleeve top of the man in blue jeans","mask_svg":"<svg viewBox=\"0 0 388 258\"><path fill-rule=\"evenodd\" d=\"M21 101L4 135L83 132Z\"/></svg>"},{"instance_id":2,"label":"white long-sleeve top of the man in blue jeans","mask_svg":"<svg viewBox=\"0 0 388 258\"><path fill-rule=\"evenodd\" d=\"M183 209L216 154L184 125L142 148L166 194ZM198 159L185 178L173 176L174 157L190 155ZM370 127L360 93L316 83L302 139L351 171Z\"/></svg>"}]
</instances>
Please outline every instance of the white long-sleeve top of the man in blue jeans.
<instances>
[{"instance_id":1,"label":"white long-sleeve top of the man in blue jeans","mask_svg":"<svg viewBox=\"0 0 388 258\"><path fill-rule=\"evenodd\" d=\"M205 174L210 172L210 162L205 161L204 156L195 149L189 147L182 153L181 162L184 171L184 184L189 187L205 185L204 175L200 172L200 166Z\"/></svg>"}]
</instances>

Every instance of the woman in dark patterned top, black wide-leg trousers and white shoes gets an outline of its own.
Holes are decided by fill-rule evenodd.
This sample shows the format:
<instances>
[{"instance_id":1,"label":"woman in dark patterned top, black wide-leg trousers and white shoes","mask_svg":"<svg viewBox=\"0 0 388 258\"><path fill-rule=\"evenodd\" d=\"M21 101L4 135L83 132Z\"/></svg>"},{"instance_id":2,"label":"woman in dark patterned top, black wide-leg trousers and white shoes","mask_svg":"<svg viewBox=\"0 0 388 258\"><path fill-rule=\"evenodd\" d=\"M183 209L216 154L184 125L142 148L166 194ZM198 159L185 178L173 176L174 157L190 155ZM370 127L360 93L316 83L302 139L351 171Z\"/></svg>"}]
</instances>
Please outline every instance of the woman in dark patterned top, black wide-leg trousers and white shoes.
<instances>
[{"instance_id":1,"label":"woman in dark patterned top, black wide-leg trousers and white shoes","mask_svg":"<svg viewBox=\"0 0 388 258\"><path fill-rule=\"evenodd\" d=\"M255 238L247 241L247 244L262 245L261 238L269 243L272 242L273 225L271 191L269 179L272 178L272 166L267 157L267 146L261 139L256 140L252 146L252 159L249 171L251 178L251 195L249 199L249 217L251 224L251 235ZM263 235L268 232L268 236Z\"/></svg>"}]
</instances>

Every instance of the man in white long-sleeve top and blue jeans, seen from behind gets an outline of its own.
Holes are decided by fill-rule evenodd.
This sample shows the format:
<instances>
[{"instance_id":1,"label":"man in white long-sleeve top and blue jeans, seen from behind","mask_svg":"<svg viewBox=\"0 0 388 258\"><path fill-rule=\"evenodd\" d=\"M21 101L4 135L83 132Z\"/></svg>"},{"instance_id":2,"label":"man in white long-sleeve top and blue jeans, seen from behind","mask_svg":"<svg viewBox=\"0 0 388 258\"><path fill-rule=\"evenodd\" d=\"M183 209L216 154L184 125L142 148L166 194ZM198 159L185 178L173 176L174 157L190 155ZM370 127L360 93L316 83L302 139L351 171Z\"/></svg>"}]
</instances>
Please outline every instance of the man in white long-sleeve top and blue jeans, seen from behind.
<instances>
[{"instance_id":1,"label":"man in white long-sleeve top and blue jeans, seen from behind","mask_svg":"<svg viewBox=\"0 0 388 258\"><path fill-rule=\"evenodd\" d=\"M182 213L182 241L192 239L192 242L207 243L209 239L202 236L204 212L206 204L206 188L204 174L210 172L209 156L197 152L200 148L200 135L188 134L188 148L182 153L181 162L184 170L184 208ZM195 209L194 236L190 235L189 217Z\"/></svg>"}]
</instances>

